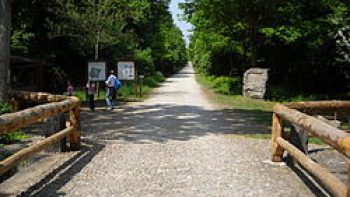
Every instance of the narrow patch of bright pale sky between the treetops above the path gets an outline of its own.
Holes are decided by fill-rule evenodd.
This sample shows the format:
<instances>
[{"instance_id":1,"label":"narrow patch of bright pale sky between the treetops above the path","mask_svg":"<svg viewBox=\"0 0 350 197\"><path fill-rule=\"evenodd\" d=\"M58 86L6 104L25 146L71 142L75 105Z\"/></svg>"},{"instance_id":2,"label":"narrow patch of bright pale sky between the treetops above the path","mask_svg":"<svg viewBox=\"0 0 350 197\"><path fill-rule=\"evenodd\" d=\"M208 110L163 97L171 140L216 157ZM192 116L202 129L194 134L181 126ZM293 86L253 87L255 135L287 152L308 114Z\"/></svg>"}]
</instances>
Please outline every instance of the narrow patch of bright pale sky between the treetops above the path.
<instances>
[{"instance_id":1,"label":"narrow patch of bright pale sky between the treetops above the path","mask_svg":"<svg viewBox=\"0 0 350 197\"><path fill-rule=\"evenodd\" d=\"M173 16L173 20L175 21L175 24L181 29L182 34L184 35L184 39L186 40L186 43L188 45L189 35L191 34L190 30L192 29L192 25L180 19L179 15L182 14L182 11L178 7L179 3L184 3L184 2L185 0L171 0L169 10Z\"/></svg>"}]
</instances>

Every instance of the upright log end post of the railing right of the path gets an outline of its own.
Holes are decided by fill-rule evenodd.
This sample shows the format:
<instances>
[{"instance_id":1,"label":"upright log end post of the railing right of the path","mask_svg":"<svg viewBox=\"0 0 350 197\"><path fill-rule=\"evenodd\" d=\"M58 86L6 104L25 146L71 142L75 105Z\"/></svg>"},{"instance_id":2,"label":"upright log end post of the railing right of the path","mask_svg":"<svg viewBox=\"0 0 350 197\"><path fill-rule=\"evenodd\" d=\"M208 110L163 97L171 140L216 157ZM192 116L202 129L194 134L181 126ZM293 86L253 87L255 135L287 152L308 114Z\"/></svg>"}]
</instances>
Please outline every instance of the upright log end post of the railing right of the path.
<instances>
[{"instance_id":1,"label":"upright log end post of the railing right of the path","mask_svg":"<svg viewBox=\"0 0 350 197\"><path fill-rule=\"evenodd\" d=\"M276 114L272 115L272 161L282 162L283 161L283 148L278 144L277 138L282 137L283 127L282 120Z\"/></svg>"}]
</instances>

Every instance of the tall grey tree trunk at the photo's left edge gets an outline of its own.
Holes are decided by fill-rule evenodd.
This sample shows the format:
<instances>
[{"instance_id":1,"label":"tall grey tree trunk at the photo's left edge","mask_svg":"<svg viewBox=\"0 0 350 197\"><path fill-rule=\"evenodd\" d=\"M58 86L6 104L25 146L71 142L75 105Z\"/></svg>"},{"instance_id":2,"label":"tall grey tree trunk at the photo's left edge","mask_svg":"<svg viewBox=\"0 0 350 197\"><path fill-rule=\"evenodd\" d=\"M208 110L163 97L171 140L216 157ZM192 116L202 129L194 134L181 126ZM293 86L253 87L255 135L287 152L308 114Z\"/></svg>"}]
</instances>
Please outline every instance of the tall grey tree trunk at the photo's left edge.
<instances>
[{"instance_id":1,"label":"tall grey tree trunk at the photo's left edge","mask_svg":"<svg viewBox=\"0 0 350 197\"><path fill-rule=\"evenodd\" d=\"M10 89L11 1L0 0L0 102L8 101Z\"/></svg>"}]
</instances>

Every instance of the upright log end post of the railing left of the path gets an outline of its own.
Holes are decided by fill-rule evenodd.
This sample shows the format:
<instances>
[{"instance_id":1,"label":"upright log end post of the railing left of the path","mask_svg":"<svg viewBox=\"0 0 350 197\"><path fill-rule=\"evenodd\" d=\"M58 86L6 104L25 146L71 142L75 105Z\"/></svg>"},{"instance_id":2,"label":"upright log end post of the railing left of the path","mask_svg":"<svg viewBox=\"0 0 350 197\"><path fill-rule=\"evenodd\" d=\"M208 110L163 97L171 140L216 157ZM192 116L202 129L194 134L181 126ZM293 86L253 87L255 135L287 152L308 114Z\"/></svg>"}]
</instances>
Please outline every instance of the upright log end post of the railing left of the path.
<instances>
[{"instance_id":1,"label":"upright log end post of the railing left of the path","mask_svg":"<svg viewBox=\"0 0 350 197\"><path fill-rule=\"evenodd\" d=\"M74 128L70 135L71 150L80 149L80 107L79 104L70 110L70 124Z\"/></svg>"}]
</instances>

